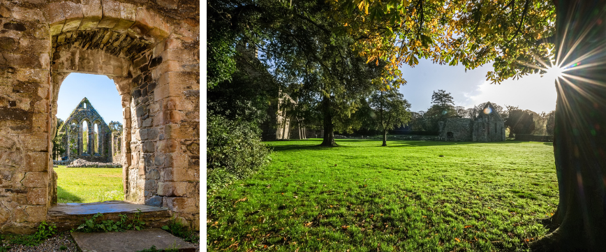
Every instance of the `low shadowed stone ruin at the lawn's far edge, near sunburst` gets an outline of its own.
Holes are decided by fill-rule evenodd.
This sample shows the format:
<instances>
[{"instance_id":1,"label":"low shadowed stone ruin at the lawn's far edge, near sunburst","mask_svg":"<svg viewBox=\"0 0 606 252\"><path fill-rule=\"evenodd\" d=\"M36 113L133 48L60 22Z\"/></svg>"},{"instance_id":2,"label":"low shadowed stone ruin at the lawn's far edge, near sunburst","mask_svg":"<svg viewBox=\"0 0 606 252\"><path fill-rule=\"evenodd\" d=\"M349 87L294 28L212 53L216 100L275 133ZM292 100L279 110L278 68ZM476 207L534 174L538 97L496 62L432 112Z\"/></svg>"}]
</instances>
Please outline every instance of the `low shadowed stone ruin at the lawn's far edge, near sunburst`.
<instances>
[{"instance_id":1,"label":"low shadowed stone ruin at the lawn's far edge, near sunburst","mask_svg":"<svg viewBox=\"0 0 606 252\"><path fill-rule=\"evenodd\" d=\"M438 139L443 141L505 141L505 121L488 102L475 119L451 118L440 121Z\"/></svg>"}]
</instances>

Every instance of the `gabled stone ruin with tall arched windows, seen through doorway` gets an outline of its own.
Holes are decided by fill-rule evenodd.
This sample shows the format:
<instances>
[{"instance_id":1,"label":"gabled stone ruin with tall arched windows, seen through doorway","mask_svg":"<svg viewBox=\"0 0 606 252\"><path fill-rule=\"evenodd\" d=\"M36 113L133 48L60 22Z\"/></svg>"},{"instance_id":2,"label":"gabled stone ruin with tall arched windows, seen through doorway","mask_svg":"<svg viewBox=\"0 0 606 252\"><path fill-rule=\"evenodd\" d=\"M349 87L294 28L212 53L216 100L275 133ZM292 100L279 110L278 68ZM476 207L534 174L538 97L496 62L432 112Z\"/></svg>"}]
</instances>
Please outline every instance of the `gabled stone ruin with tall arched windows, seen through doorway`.
<instances>
[{"instance_id":1,"label":"gabled stone ruin with tall arched windows, seen through doorway","mask_svg":"<svg viewBox=\"0 0 606 252\"><path fill-rule=\"evenodd\" d=\"M84 125L87 128L84 128ZM86 97L71 112L64 124L59 126L59 133L64 133L61 143L66 150L62 159L80 158L101 163L112 161L110 127Z\"/></svg>"}]
</instances>

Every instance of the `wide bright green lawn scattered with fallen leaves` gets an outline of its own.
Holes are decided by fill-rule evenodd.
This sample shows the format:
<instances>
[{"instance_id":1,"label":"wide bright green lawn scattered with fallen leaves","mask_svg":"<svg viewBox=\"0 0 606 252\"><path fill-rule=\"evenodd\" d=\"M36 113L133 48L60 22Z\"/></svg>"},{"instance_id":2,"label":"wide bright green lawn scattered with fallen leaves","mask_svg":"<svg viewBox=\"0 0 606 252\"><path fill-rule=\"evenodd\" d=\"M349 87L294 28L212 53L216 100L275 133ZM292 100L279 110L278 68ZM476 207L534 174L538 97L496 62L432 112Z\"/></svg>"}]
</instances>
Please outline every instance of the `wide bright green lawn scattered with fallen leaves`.
<instances>
[{"instance_id":1,"label":"wide bright green lawn scattered with fallen leaves","mask_svg":"<svg viewBox=\"0 0 606 252\"><path fill-rule=\"evenodd\" d=\"M558 203L551 143L268 142L207 198L209 250L526 251Z\"/></svg>"}]
</instances>

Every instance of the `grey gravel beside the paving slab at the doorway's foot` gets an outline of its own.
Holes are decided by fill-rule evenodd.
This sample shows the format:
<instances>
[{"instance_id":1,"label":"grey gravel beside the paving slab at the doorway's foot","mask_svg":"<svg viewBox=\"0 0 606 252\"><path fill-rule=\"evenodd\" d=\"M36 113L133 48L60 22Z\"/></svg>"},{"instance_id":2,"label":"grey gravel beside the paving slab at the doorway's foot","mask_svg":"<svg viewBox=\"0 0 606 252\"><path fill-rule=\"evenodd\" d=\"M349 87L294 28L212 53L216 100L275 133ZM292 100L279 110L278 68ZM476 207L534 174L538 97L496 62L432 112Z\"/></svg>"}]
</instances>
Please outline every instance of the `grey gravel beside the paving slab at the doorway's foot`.
<instances>
[{"instance_id":1,"label":"grey gravel beside the paving slab at the doorway's foot","mask_svg":"<svg viewBox=\"0 0 606 252\"><path fill-rule=\"evenodd\" d=\"M200 244L192 245L195 246L195 252L200 252ZM66 249L61 250L61 246L65 246ZM38 246L10 245L8 252L80 252L80 249L67 231L45 240Z\"/></svg>"}]
</instances>

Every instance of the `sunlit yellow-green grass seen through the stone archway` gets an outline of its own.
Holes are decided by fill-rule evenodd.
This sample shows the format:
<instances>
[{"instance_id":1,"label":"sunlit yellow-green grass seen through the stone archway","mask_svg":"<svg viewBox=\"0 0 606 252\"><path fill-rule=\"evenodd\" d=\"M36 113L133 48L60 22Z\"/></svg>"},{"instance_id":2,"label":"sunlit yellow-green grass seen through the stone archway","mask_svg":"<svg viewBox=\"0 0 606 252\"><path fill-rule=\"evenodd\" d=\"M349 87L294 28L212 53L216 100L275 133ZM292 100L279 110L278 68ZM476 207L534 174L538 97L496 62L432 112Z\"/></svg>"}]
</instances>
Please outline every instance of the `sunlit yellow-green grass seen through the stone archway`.
<instances>
[{"instance_id":1,"label":"sunlit yellow-green grass seen through the stone archway","mask_svg":"<svg viewBox=\"0 0 606 252\"><path fill-rule=\"evenodd\" d=\"M59 203L124 200L120 168L66 168L59 165L54 171L58 177Z\"/></svg>"}]
</instances>

